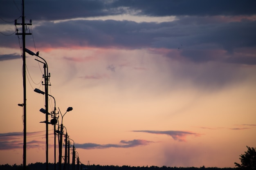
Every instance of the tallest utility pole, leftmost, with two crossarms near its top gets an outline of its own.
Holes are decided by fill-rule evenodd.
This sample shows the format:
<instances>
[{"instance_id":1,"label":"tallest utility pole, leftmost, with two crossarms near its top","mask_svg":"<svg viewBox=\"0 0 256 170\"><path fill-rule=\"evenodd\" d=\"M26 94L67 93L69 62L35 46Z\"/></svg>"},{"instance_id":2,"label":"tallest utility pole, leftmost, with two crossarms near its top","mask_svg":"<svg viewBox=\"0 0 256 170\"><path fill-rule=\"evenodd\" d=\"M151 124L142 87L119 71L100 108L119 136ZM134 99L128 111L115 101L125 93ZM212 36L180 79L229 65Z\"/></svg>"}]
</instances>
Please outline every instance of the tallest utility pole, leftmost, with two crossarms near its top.
<instances>
[{"instance_id":1,"label":"tallest utility pole, leftmost, with two crossarms near its top","mask_svg":"<svg viewBox=\"0 0 256 170\"><path fill-rule=\"evenodd\" d=\"M24 15L24 0L22 0L22 23L17 23L15 20L15 25L22 25L22 33L18 33L16 30L16 35L22 35L22 76L23 76L23 170L26 170L26 148L27 148L27 102L26 102L26 53L25 53L25 35L31 35L31 33L25 33L25 25L32 25L30 20L29 24L25 24L25 15Z\"/></svg>"}]
</instances>

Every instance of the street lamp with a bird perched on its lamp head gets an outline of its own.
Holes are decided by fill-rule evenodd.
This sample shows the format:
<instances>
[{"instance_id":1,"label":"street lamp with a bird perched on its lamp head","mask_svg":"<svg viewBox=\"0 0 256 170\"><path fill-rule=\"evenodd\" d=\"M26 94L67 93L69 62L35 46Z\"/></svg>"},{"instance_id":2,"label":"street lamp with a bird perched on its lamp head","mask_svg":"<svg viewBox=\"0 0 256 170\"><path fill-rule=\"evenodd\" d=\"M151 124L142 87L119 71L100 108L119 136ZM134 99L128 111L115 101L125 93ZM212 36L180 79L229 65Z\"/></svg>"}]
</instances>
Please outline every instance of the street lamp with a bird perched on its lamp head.
<instances>
[{"instance_id":1,"label":"street lamp with a bird perched on its lamp head","mask_svg":"<svg viewBox=\"0 0 256 170\"><path fill-rule=\"evenodd\" d=\"M45 111L46 113L48 113L48 77L50 77L50 75L48 75L48 65L47 62L45 61L45 59L43 59L42 57L39 56L39 52L37 52L36 54L32 51L30 51L29 49L25 49L25 52L27 52L30 55L36 55L37 57L39 57L40 59L42 59L44 62L35 59L36 61L43 63L44 64L44 79L45 79ZM45 137L46 137L46 170L48 170L48 114L45 114L45 126L46 126L46 133L45 133Z\"/></svg>"}]
</instances>

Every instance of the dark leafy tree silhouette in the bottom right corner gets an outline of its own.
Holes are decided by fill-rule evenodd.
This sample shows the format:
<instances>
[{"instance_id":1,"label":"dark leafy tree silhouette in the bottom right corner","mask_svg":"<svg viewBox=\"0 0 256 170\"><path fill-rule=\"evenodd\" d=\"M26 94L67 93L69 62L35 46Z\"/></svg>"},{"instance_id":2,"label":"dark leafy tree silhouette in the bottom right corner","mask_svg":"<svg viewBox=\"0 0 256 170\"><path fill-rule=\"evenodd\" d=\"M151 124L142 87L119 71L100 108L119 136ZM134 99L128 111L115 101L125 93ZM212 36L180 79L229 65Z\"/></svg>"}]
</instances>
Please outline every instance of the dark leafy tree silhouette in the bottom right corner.
<instances>
[{"instance_id":1,"label":"dark leafy tree silhouette in the bottom right corner","mask_svg":"<svg viewBox=\"0 0 256 170\"><path fill-rule=\"evenodd\" d=\"M241 164L235 162L235 165L244 170L256 170L256 148L246 147L248 149L247 152L241 154L239 158Z\"/></svg>"}]
</instances>

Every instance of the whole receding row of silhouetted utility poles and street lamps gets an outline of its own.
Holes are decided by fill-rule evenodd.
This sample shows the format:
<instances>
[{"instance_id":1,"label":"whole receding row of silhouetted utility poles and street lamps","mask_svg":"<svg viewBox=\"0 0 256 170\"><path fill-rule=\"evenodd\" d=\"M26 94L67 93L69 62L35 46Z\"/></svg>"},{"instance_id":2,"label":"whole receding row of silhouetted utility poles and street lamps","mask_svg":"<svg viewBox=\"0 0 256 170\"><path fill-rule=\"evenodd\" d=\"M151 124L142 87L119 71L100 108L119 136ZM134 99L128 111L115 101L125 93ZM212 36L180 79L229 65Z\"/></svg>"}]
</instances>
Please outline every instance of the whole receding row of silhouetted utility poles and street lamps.
<instances>
[{"instance_id":1,"label":"whole receding row of silhouetted utility poles and street lamps","mask_svg":"<svg viewBox=\"0 0 256 170\"><path fill-rule=\"evenodd\" d=\"M52 95L48 94L48 86L49 86L49 77L50 77L50 73L48 73L48 65L47 62L39 56L39 52L34 53L28 49L25 48L25 35L31 35L31 33L26 33L25 32L25 26L27 25L32 25L32 21L30 20L29 23L25 23L25 15L24 15L24 0L22 0L22 23L17 23L17 20L15 20L15 25L22 25L22 33L18 33L18 29L16 29L16 35L22 35L22 60L23 60L23 65L22 65L22 75L23 75L23 104L18 104L18 106L23 106L23 125L24 125L24 129L23 129L23 170L26 170L26 148L27 148L27 104L26 104L26 53L30 54L30 55L35 55L37 57L39 57L41 60L37 60L40 63L44 64L44 83L42 82L42 84L45 86L45 92L40 91L39 89L35 89L34 91L37 93L41 93L43 95L45 95L45 109L41 108L40 111L42 113L45 113L45 121L42 121L42 123L45 123L45 128L46 128L46 134L45 134L45 138L46 138L46 170L49 170L49 166L48 166L48 124L52 124L54 125L54 170L56 170L56 133L58 134L58 149L59 149L59 158L58 158L58 164L59 164L59 170L61 170L61 161L62 161L62 140L63 140L63 135L65 136L65 156L64 156L64 166L63 166L63 170L69 170L69 166L70 166L70 138L67 135L67 130L66 130L66 134L63 133L63 127L65 128L65 126L63 126L63 117L64 115L73 110L72 107L67 108L67 111L64 115L61 114L61 126L59 127L58 124L58 130L56 130L56 124L58 122L58 117L56 117L56 101L55 98ZM52 97L54 99L54 111L52 113L48 112L48 96ZM59 110L60 111L60 110ZM61 111L60 111L61 113ZM51 119L51 121L48 121L48 116L51 115L51 117L53 119ZM60 128L60 130L59 130ZM72 139L71 139L72 140ZM73 140L72 140L73 141ZM72 149L72 170L75 170L75 156L77 153L77 170L79 170L79 156L78 156L78 152L75 151L75 146L74 146L74 141L73 141L73 149Z\"/></svg>"}]
</instances>

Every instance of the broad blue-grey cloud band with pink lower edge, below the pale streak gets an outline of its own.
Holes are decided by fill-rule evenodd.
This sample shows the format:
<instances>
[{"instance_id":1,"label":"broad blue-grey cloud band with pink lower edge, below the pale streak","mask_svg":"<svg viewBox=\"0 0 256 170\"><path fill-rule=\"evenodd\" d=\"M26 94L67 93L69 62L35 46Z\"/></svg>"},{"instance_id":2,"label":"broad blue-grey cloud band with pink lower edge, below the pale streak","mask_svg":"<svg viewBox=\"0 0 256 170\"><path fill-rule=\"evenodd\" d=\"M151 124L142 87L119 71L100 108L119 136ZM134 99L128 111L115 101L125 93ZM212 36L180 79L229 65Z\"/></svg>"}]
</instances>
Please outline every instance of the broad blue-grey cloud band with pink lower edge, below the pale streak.
<instances>
[{"instance_id":1,"label":"broad blue-grey cloud band with pink lower edge, below the pale streak","mask_svg":"<svg viewBox=\"0 0 256 170\"><path fill-rule=\"evenodd\" d=\"M256 64L255 51L233 55L236 49L255 49L256 21L207 23L205 20L201 22L200 19L202 18L184 17L177 21L162 23L137 23L127 20L44 22L34 28L33 34L38 48L92 46L177 49L183 44L182 48L177 50L182 57L191 62ZM0 46L14 46L16 43L9 42L8 37L3 38L7 41L0 42ZM27 46L33 46L32 40L27 41ZM224 50L225 53L220 54L213 50ZM177 59L172 53L166 56Z\"/></svg>"}]
</instances>

